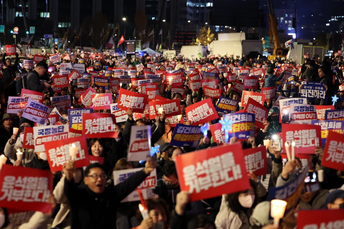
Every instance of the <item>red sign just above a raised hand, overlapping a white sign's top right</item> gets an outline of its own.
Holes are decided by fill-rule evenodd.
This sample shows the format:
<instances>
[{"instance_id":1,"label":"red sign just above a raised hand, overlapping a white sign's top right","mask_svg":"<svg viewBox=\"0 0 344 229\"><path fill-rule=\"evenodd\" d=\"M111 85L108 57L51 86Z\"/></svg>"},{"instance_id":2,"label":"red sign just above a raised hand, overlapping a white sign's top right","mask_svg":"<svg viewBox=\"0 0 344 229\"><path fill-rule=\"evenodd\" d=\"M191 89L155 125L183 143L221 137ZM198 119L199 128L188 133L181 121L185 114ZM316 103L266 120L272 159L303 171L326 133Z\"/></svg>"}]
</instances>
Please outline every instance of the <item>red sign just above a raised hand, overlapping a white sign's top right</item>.
<instances>
[{"instance_id":1,"label":"red sign just above a raised hand, overlapping a white sign's top right","mask_svg":"<svg viewBox=\"0 0 344 229\"><path fill-rule=\"evenodd\" d=\"M128 111L132 109L134 112L143 113L148 103L148 95L139 94L121 88L119 90L117 107Z\"/></svg>"}]
</instances>

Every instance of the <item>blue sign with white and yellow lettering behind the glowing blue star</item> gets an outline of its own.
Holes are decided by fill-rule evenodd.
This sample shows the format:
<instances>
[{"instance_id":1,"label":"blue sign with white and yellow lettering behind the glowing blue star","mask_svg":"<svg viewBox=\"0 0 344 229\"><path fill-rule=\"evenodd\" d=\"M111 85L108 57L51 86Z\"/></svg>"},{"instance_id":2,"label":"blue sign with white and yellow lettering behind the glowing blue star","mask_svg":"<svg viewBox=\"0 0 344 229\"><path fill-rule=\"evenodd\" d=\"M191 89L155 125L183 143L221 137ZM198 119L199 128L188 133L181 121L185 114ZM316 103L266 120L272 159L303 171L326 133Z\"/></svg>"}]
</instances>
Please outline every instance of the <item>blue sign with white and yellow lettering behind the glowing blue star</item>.
<instances>
[{"instance_id":1,"label":"blue sign with white and yellow lettering behind the glowing blue star","mask_svg":"<svg viewBox=\"0 0 344 229\"><path fill-rule=\"evenodd\" d=\"M233 121L232 130L229 130L229 139L236 137L237 139L247 139L254 136L255 133L255 115L249 113L233 113L224 114L223 118L228 116Z\"/></svg>"}]
</instances>

